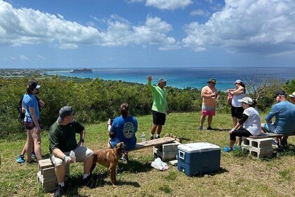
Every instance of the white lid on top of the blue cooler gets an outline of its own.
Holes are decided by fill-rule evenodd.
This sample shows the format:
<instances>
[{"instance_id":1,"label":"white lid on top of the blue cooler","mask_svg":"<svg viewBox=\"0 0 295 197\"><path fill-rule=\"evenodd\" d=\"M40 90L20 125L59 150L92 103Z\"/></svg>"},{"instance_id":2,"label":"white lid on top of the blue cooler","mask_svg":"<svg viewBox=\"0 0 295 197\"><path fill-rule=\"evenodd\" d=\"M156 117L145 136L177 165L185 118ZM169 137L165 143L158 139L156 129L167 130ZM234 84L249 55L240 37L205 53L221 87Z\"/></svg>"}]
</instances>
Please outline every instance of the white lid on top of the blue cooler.
<instances>
[{"instance_id":1,"label":"white lid on top of the blue cooler","mask_svg":"<svg viewBox=\"0 0 295 197\"><path fill-rule=\"evenodd\" d=\"M216 146L214 144L210 144L208 142L196 142L190 144L180 144L178 145L178 149L188 153L202 153L206 151L220 150L221 147Z\"/></svg>"}]
</instances>

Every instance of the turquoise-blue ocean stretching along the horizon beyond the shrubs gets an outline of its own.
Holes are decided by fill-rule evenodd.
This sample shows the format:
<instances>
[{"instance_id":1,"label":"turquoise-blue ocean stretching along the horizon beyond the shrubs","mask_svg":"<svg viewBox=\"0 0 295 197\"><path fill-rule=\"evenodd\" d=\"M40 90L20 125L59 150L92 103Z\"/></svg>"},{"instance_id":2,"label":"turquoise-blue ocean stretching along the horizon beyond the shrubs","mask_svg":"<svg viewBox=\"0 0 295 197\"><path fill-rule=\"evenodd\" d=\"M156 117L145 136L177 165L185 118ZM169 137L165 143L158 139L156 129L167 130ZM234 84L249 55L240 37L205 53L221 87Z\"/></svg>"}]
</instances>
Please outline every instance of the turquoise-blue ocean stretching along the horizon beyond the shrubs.
<instances>
[{"instance_id":1,"label":"turquoise-blue ocean stretching along the horizon beyond the shrubs","mask_svg":"<svg viewBox=\"0 0 295 197\"><path fill-rule=\"evenodd\" d=\"M286 82L295 79L295 68L91 68L92 73L70 73L63 68L46 72L47 75L60 75L67 77L99 78L101 80L122 80L146 84L147 76L154 77L152 83L157 84L159 77L165 77L167 86L184 89L193 87L201 89L210 78L215 78L216 88L225 91L234 88L235 80L246 82L251 79L276 79Z\"/></svg>"}]
</instances>

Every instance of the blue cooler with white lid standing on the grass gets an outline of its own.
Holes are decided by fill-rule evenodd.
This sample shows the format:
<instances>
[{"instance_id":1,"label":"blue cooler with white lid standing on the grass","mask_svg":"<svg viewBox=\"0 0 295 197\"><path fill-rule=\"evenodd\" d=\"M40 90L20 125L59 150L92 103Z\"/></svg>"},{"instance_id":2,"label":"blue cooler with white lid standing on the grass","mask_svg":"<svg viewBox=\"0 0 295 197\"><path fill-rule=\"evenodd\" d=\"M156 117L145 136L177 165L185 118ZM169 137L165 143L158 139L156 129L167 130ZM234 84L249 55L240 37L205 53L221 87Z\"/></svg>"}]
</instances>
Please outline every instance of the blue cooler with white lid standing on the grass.
<instances>
[{"instance_id":1,"label":"blue cooler with white lid standing on the grass","mask_svg":"<svg viewBox=\"0 0 295 197\"><path fill-rule=\"evenodd\" d=\"M221 147L207 142L178 145L178 170L188 176L206 174L221 167Z\"/></svg>"}]
</instances>

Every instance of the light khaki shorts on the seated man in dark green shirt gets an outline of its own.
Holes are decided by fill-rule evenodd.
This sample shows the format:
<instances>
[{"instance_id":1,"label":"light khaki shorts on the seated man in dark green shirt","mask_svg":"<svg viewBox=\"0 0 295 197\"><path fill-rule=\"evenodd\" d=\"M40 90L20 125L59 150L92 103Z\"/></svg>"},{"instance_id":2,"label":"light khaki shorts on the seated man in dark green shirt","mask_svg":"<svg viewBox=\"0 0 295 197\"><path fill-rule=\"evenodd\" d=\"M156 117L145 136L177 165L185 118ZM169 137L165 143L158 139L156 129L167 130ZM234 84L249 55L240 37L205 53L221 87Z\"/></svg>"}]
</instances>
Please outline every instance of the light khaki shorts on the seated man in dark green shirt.
<instances>
[{"instance_id":1,"label":"light khaki shorts on the seated man in dark green shirt","mask_svg":"<svg viewBox=\"0 0 295 197\"><path fill-rule=\"evenodd\" d=\"M77 148L74 148L74 155L76 156L76 162L84 162L87 158L89 158L91 155L93 155L93 151L89 148L86 148L85 146L78 146ZM68 157L70 156L70 152L63 152ZM50 156L51 163L55 167L58 167L58 165L65 165L65 161L63 158L56 158L53 153Z\"/></svg>"}]
</instances>

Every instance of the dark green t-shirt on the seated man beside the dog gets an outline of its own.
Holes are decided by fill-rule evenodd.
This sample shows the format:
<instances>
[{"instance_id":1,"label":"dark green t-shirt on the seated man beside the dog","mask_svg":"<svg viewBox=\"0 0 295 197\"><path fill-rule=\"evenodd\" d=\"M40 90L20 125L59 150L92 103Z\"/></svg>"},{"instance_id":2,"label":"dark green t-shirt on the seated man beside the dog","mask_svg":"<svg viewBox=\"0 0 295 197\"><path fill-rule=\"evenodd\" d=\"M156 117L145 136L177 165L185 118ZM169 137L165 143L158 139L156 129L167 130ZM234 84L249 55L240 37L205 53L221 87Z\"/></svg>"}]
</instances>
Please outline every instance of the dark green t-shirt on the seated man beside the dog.
<instances>
[{"instance_id":1,"label":"dark green t-shirt on the seated man beside the dog","mask_svg":"<svg viewBox=\"0 0 295 197\"><path fill-rule=\"evenodd\" d=\"M83 130L84 126L76 120L67 125L54 122L48 132L49 152L52 153L55 148L59 148L63 152L74 150L74 148L77 148L76 134Z\"/></svg>"}]
</instances>

